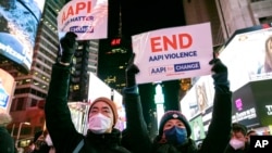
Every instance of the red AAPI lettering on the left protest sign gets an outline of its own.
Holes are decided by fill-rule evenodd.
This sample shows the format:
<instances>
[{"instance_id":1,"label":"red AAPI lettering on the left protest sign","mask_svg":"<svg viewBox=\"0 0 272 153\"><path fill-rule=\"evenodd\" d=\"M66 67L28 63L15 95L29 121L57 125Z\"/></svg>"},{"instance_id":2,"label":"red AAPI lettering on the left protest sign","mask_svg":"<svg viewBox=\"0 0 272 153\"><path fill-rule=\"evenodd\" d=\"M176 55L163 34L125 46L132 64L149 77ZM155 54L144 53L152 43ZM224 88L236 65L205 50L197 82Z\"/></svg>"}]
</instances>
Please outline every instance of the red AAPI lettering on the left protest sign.
<instances>
[{"instance_id":1,"label":"red AAPI lettering on the left protest sign","mask_svg":"<svg viewBox=\"0 0 272 153\"><path fill-rule=\"evenodd\" d=\"M90 13L90 11L91 11L91 1L77 2L75 5L70 5L66 12L63 11L61 22L63 23L70 16L79 14L81 11L86 11L86 13Z\"/></svg>"}]
</instances>

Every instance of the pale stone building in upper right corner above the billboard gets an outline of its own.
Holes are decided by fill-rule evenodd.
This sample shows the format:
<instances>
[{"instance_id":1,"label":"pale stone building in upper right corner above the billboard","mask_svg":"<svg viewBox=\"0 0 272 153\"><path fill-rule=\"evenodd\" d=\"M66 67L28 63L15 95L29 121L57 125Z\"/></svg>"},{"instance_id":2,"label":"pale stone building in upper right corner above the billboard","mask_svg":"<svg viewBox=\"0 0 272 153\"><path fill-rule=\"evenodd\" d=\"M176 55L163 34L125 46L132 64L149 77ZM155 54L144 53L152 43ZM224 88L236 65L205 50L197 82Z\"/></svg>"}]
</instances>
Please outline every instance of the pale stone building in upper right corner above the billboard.
<instances>
[{"instance_id":1,"label":"pale stone building in upper right corner above the billboard","mask_svg":"<svg viewBox=\"0 0 272 153\"><path fill-rule=\"evenodd\" d=\"M237 29L272 23L272 0L218 0L224 38Z\"/></svg>"}]
</instances>

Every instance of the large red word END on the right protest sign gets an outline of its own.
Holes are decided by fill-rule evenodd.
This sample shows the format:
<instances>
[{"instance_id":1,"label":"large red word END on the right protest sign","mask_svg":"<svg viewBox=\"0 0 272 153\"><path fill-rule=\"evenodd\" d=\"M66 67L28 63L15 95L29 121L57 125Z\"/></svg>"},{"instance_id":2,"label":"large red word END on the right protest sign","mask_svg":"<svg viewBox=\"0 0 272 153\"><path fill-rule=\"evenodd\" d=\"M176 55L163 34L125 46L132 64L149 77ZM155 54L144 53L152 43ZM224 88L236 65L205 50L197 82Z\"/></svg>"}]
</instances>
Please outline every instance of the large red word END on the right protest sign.
<instances>
[{"instance_id":1,"label":"large red word END on the right protest sign","mask_svg":"<svg viewBox=\"0 0 272 153\"><path fill-rule=\"evenodd\" d=\"M172 35L172 38L168 36L152 37L150 38L150 46L152 52L168 51L170 49L186 49L193 43L193 38L189 34Z\"/></svg>"}]
</instances>

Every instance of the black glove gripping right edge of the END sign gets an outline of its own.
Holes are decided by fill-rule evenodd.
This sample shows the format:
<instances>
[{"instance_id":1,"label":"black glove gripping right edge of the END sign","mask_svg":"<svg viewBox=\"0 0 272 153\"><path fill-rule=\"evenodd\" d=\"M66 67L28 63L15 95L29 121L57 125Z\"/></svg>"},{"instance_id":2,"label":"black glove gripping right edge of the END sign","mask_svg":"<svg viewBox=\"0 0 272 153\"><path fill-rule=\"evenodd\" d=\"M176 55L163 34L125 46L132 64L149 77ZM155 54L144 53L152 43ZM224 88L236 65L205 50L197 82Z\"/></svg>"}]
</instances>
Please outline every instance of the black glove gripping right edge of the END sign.
<instances>
[{"instance_id":1,"label":"black glove gripping right edge of the END sign","mask_svg":"<svg viewBox=\"0 0 272 153\"><path fill-rule=\"evenodd\" d=\"M227 67L221 62L220 59L213 59L209 62L212 65L211 71L214 73L212 78L214 80L215 86L225 86L230 87L230 82L227 80Z\"/></svg>"}]
</instances>

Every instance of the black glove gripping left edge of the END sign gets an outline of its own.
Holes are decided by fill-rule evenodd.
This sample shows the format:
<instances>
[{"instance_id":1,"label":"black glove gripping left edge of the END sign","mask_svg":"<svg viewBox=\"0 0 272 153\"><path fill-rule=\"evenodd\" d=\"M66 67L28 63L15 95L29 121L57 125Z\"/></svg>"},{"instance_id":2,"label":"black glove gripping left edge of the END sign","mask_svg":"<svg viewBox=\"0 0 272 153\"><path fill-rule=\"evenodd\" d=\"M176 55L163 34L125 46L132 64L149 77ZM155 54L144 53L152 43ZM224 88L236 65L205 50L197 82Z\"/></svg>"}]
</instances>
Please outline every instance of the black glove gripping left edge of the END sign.
<instances>
[{"instance_id":1,"label":"black glove gripping left edge of the END sign","mask_svg":"<svg viewBox=\"0 0 272 153\"><path fill-rule=\"evenodd\" d=\"M136 85L135 75L139 73L139 68L134 64L135 53L132 54L128 65L125 69L126 87L133 87Z\"/></svg>"}]
</instances>

